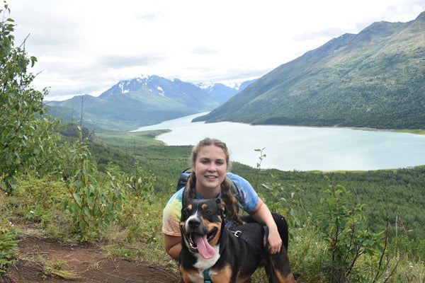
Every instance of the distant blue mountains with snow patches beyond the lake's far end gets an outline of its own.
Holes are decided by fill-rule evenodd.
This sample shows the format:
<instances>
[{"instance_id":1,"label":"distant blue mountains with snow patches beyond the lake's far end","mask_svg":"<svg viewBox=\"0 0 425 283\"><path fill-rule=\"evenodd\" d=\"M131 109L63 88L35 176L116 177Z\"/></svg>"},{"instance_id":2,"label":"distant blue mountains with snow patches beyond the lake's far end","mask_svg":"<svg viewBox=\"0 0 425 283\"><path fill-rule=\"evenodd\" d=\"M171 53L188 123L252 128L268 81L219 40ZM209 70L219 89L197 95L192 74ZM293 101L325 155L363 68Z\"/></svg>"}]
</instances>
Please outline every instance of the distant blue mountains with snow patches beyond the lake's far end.
<instances>
[{"instance_id":1,"label":"distant blue mountains with snow patches beyond the lake's far end","mask_svg":"<svg viewBox=\"0 0 425 283\"><path fill-rule=\"evenodd\" d=\"M146 76L119 81L98 97L75 96L46 104L50 113L62 120L80 120L98 130L130 130L164 120L207 112L234 96L237 90L227 86L211 86L211 90L179 79Z\"/></svg>"}]
</instances>

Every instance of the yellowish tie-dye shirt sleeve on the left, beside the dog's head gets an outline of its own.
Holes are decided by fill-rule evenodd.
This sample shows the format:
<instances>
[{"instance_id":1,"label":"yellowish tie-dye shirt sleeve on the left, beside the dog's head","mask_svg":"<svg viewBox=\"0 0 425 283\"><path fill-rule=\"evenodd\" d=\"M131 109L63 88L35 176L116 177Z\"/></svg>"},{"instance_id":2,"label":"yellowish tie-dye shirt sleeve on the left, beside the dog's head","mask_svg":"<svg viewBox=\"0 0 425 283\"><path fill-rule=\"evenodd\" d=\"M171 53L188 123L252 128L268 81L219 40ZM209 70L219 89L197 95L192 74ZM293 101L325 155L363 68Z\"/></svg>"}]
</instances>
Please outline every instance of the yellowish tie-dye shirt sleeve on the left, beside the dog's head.
<instances>
[{"instance_id":1,"label":"yellowish tie-dye shirt sleeve on the left, beside the dog's head","mask_svg":"<svg viewBox=\"0 0 425 283\"><path fill-rule=\"evenodd\" d=\"M180 218L183 188L167 202L162 214L162 232L169 236L181 236Z\"/></svg>"}]
</instances>

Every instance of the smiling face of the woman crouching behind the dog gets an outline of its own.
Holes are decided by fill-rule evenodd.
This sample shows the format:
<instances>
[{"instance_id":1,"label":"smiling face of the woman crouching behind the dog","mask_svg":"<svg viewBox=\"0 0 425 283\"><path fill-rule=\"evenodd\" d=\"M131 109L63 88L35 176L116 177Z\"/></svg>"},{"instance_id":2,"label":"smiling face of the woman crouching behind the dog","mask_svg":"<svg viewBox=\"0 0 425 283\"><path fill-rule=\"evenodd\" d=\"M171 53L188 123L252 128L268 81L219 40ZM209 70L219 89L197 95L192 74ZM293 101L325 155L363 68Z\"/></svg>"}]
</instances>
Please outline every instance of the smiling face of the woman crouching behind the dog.
<instances>
[{"instance_id":1,"label":"smiling face of the woman crouching behind the dog","mask_svg":"<svg viewBox=\"0 0 425 283\"><path fill-rule=\"evenodd\" d=\"M198 190L217 190L226 178L226 154L220 147L204 146L198 152L192 171L196 173L196 188Z\"/></svg>"}]
</instances>

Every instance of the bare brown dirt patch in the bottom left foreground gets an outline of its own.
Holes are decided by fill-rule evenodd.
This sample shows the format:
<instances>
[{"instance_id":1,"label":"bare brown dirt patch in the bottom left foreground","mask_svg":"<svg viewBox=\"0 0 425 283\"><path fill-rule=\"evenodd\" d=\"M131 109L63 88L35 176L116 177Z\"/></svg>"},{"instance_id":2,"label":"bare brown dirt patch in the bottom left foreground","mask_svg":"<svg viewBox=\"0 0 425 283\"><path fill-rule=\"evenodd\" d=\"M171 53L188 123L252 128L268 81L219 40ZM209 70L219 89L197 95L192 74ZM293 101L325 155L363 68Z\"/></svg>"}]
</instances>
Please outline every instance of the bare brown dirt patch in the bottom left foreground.
<instances>
[{"instance_id":1,"label":"bare brown dirt patch in the bottom left foreground","mask_svg":"<svg viewBox=\"0 0 425 283\"><path fill-rule=\"evenodd\" d=\"M0 283L179 282L179 275L174 272L148 262L111 258L95 243L66 246L28 237L19 243L19 249L18 261L0 277Z\"/></svg>"}]
</instances>

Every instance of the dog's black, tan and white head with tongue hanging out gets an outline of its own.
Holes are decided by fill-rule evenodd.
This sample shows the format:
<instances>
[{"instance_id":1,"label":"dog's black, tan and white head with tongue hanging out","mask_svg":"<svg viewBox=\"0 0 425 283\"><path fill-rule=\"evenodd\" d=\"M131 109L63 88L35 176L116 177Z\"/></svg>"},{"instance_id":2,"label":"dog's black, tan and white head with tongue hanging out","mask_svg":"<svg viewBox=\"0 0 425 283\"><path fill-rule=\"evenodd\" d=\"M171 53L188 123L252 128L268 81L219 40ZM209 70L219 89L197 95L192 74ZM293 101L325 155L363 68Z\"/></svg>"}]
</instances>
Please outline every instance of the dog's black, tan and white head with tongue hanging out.
<instances>
[{"instance_id":1,"label":"dog's black, tan and white head with tongue hanging out","mask_svg":"<svg viewBox=\"0 0 425 283\"><path fill-rule=\"evenodd\" d=\"M180 229L184 243L192 253L209 259L220 240L225 205L222 200L189 199L181 209Z\"/></svg>"}]
</instances>

